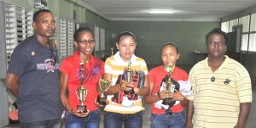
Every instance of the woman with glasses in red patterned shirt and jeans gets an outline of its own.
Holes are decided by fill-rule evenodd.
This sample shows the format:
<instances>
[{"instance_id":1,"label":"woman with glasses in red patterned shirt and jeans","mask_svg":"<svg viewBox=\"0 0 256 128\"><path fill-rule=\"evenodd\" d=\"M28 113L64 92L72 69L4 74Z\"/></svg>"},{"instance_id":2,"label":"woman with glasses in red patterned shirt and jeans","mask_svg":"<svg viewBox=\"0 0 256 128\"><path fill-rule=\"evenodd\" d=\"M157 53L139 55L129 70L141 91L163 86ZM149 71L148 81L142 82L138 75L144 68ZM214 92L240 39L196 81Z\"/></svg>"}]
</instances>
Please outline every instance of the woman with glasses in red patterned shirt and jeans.
<instances>
[{"instance_id":1,"label":"woman with glasses in red patterned shirt and jeans","mask_svg":"<svg viewBox=\"0 0 256 128\"><path fill-rule=\"evenodd\" d=\"M97 82L102 78L104 63L91 54L94 44L93 32L89 28L79 28L74 33L74 45L78 51L61 64L60 95L61 103L67 109L66 128L97 128L99 125L100 109L95 101L98 96ZM78 110L81 103L77 96L79 86L86 89L85 111Z\"/></svg>"}]
</instances>

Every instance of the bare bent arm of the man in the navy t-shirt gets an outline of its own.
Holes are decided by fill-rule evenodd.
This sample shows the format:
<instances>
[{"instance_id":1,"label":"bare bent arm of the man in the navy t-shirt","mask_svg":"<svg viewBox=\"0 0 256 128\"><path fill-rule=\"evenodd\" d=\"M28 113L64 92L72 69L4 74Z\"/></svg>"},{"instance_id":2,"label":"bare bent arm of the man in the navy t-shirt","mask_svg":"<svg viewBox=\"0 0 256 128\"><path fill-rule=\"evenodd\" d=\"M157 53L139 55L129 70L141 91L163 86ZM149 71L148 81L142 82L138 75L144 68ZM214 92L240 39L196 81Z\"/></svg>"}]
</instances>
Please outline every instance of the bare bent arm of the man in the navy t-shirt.
<instances>
[{"instance_id":1,"label":"bare bent arm of the man in the navy t-shirt","mask_svg":"<svg viewBox=\"0 0 256 128\"><path fill-rule=\"evenodd\" d=\"M15 97L19 95L19 81L20 77L14 74L7 74L5 79L5 86L9 89Z\"/></svg>"}]
</instances>

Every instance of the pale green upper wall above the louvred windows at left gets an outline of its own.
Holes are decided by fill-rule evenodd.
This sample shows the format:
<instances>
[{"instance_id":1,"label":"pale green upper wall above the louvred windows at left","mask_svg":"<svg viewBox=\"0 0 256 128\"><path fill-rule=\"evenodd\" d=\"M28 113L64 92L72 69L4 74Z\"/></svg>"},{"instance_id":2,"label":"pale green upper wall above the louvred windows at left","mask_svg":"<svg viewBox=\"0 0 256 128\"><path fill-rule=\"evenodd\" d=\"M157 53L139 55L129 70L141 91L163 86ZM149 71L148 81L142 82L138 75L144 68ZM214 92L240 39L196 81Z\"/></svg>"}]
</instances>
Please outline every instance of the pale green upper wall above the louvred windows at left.
<instances>
[{"instance_id":1,"label":"pale green upper wall above the louvred windows at left","mask_svg":"<svg viewBox=\"0 0 256 128\"><path fill-rule=\"evenodd\" d=\"M34 8L34 0L3 0L6 3L12 3L25 8ZM67 0L48 0L48 9L55 14L57 19L73 19L73 10L76 11L76 23L96 23L97 26L106 27L108 20L98 14L92 13L86 8L68 2Z\"/></svg>"}]
</instances>

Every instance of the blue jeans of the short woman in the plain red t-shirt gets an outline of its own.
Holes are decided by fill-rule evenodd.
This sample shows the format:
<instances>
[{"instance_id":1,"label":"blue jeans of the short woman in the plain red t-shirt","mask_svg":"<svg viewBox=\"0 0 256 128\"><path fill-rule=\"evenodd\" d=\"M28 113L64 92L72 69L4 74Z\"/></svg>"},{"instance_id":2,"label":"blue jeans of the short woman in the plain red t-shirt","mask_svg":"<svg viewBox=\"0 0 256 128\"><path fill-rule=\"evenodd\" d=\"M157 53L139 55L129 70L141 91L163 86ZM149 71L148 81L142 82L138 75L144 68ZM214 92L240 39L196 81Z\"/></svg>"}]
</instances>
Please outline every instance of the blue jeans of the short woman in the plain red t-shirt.
<instances>
[{"instance_id":1,"label":"blue jeans of the short woman in the plain red t-shirt","mask_svg":"<svg viewBox=\"0 0 256 128\"><path fill-rule=\"evenodd\" d=\"M151 128L184 128L185 127L185 113L173 113L170 118L169 114L151 114Z\"/></svg>"}]
</instances>

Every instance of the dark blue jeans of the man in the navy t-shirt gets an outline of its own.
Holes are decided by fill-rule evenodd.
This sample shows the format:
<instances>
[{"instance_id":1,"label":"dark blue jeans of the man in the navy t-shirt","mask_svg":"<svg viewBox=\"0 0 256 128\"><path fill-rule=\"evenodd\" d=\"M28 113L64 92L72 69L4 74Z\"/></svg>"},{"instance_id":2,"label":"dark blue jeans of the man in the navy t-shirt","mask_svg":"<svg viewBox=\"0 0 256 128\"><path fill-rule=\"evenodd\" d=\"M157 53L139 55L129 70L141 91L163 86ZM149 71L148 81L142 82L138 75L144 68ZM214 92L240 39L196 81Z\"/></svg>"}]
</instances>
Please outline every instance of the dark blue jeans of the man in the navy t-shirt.
<instances>
[{"instance_id":1,"label":"dark blue jeans of the man in the navy t-shirt","mask_svg":"<svg viewBox=\"0 0 256 128\"><path fill-rule=\"evenodd\" d=\"M61 127L61 117L60 119L35 121L35 122L20 122L21 128L60 128Z\"/></svg>"}]
</instances>

